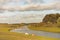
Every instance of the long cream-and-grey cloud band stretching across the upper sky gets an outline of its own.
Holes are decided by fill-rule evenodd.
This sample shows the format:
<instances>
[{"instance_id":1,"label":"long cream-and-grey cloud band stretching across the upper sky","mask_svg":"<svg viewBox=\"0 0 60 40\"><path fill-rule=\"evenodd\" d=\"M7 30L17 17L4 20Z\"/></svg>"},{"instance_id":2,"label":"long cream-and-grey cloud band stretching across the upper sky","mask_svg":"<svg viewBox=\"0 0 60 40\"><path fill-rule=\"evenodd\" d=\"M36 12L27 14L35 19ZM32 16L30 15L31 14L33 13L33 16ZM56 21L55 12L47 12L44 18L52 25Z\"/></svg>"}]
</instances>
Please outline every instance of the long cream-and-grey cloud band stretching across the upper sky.
<instances>
[{"instance_id":1,"label":"long cream-and-grey cloud band stretching across the upper sky","mask_svg":"<svg viewBox=\"0 0 60 40\"><path fill-rule=\"evenodd\" d=\"M19 1L19 0L18 0ZM24 1L24 0L23 0ZM39 0L38 0L39 1ZM24 2L28 2L27 5L3 5L4 9L16 9L16 10L45 10L45 9L60 9L60 1L54 1L52 3L34 3L34 0L26 0Z\"/></svg>"}]
</instances>

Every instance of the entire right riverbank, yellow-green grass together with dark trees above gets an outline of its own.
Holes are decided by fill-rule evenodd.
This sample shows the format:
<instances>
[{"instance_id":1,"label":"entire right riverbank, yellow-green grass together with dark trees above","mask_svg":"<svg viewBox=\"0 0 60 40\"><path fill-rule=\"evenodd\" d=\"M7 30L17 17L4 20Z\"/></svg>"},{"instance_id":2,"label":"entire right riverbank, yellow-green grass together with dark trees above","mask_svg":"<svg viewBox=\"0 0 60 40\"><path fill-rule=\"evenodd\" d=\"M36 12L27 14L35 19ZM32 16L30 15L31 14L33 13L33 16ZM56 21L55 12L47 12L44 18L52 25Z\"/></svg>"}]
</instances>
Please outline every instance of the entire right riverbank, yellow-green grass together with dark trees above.
<instances>
[{"instance_id":1,"label":"entire right riverbank, yellow-green grass together with dark trees above","mask_svg":"<svg viewBox=\"0 0 60 40\"><path fill-rule=\"evenodd\" d=\"M31 30L48 31L60 33L60 14L48 14L40 23L30 23Z\"/></svg>"}]
</instances>

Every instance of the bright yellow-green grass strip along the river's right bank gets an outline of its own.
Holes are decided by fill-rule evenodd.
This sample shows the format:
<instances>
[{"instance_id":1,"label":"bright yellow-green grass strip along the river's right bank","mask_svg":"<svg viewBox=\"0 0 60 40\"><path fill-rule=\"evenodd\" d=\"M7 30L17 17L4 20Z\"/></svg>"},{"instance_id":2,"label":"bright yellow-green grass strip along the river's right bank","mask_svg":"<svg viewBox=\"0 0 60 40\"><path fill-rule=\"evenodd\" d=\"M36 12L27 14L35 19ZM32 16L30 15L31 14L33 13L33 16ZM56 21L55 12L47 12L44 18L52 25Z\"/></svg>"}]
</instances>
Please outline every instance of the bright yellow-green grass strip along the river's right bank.
<instances>
[{"instance_id":1,"label":"bright yellow-green grass strip along the river's right bank","mask_svg":"<svg viewBox=\"0 0 60 40\"><path fill-rule=\"evenodd\" d=\"M57 27L28 27L28 28L29 28L30 30L60 33L60 28L57 28Z\"/></svg>"}]
</instances>

